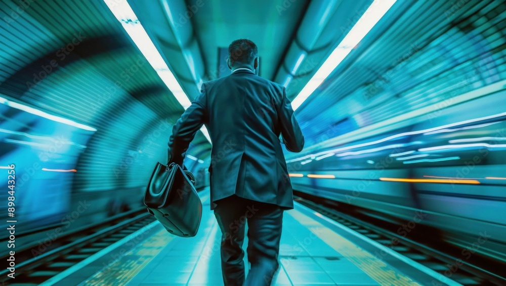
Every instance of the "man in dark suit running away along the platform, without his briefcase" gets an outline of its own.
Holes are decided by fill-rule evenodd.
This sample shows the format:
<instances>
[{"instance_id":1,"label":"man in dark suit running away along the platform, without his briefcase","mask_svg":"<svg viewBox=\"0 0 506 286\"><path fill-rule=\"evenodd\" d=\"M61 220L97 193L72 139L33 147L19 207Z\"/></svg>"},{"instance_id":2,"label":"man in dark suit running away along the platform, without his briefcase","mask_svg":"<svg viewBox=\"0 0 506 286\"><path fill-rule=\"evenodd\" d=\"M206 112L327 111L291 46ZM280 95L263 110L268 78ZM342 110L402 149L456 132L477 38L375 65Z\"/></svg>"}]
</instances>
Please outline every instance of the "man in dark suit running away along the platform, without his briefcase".
<instances>
[{"instance_id":1,"label":"man in dark suit running away along the platform, without his briefcase","mask_svg":"<svg viewBox=\"0 0 506 286\"><path fill-rule=\"evenodd\" d=\"M213 144L210 200L222 232L225 285L270 285L279 267L283 211L293 194L280 134L287 150L300 152L304 136L285 87L258 76L255 43L229 46L232 74L202 84L200 95L181 116L168 142L171 162L183 163L195 133L205 124ZM245 223L248 261L245 278Z\"/></svg>"}]
</instances>

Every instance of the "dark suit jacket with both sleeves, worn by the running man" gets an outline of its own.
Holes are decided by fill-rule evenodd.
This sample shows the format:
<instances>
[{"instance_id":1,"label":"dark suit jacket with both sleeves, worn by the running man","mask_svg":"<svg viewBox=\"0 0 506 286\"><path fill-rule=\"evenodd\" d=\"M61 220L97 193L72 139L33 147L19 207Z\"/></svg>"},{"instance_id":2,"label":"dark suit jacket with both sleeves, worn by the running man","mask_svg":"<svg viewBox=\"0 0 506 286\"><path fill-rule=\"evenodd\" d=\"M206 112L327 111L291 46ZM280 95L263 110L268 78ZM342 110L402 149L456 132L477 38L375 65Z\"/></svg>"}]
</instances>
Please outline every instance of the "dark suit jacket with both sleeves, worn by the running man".
<instances>
[{"instance_id":1,"label":"dark suit jacket with both sleeves, worn by the running man","mask_svg":"<svg viewBox=\"0 0 506 286\"><path fill-rule=\"evenodd\" d=\"M195 133L205 124L213 147L209 166L211 209L233 194L293 208L293 193L279 135L300 152L304 136L284 86L237 70L202 84L201 93L173 128L171 161L180 165Z\"/></svg>"}]
</instances>

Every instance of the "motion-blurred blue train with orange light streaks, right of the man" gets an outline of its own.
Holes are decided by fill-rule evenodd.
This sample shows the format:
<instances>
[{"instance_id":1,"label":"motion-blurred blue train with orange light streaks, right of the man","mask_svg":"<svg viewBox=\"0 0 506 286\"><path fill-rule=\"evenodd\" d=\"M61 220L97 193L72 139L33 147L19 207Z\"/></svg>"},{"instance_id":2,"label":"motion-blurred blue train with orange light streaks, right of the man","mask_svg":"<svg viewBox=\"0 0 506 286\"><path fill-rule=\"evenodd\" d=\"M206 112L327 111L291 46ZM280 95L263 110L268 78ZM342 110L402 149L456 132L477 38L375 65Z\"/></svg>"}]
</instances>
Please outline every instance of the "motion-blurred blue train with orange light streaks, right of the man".
<instances>
[{"instance_id":1,"label":"motion-blurred blue train with orange light streaks, right of the man","mask_svg":"<svg viewBox=\"0 0 506 286\"><path fill-rule=\"evenodd\" d=\"M293 188L397 218L400 226L433 226L463 249L474 243L506 261L504 98L502 90L438 103L424 115L321 142L288 158Z\"/></svg>"}]
</instances>

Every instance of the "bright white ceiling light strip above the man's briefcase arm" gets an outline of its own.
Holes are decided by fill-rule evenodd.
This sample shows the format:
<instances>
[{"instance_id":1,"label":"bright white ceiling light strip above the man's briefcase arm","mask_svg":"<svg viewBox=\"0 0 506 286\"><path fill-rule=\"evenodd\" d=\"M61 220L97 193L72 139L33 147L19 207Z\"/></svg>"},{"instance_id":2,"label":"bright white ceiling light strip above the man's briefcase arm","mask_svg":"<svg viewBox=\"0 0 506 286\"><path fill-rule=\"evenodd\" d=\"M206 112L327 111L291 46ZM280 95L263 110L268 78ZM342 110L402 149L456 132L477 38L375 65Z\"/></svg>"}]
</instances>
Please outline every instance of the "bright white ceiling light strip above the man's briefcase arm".
<instances>
[{"instance_id":1,"label":"bright white ceiling light strip above the man's briefcase arm","mask_svg":"<svg viewBox=\"0 0 506 286\"><path fill-rule=\"evenodd\" d=\"M126 2L126 0L104 0L104 2L174 97L176 97L184 109L188 108L191 105L190 99L172 71L168 68L163 57L158 52L158 49L156 49L156 46L153 41L151 41L151 38L149 38L149 35L146 33L146 30L139 22L139 18L137 18L128 2ZM203 130L205 130L205 132ZM205 138L211 142L209 134L204 126L202 126L200 131L202 131Z\"/></svg>"}]
</instances>

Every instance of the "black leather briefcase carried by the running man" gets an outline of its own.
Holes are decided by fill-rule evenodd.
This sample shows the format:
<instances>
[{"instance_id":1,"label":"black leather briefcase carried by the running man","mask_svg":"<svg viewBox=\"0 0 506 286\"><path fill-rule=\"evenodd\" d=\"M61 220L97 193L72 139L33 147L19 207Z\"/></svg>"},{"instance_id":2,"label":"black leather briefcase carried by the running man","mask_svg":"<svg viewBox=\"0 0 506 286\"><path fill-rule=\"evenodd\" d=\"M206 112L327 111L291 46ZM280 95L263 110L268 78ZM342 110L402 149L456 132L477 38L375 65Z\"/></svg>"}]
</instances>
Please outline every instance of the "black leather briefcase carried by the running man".
<instances>
[{"instance_id":1,"label":"black leather briefcase carried by the running man","mask_svg":"<svg viewBox=\"0 0 506 286\"><path fill-rule=\"evenodd\" d=\"M202 202L194 187L190 171L176 163L157 163L144 195L148 212L168 232L180 237L194 237L202 217Z\"/></svg>"}]
</instances>

